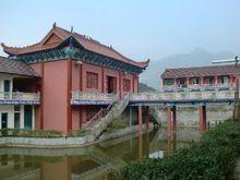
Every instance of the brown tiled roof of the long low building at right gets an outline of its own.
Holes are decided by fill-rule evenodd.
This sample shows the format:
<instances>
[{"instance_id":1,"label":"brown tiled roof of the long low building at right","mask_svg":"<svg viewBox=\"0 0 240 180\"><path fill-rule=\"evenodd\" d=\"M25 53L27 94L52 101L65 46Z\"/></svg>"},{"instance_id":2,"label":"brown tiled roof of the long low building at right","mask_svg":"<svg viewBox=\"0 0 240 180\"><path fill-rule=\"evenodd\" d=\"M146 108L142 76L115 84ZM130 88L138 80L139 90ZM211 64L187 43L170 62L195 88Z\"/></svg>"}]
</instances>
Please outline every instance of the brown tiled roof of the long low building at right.
<instances>
[{"instance_id":1,"label":"brown tiled roof of the long low building at right","mask_svg":"<svg viewBox=\"0 0 240 180\"><path fill-rule=\"evenodd\" d=\"M236 65L212 65L195 68L166 69L161 74L163 79L193 77L193 76L214 76L240 74L240 67Z\"/></svg>"}]
</instances>

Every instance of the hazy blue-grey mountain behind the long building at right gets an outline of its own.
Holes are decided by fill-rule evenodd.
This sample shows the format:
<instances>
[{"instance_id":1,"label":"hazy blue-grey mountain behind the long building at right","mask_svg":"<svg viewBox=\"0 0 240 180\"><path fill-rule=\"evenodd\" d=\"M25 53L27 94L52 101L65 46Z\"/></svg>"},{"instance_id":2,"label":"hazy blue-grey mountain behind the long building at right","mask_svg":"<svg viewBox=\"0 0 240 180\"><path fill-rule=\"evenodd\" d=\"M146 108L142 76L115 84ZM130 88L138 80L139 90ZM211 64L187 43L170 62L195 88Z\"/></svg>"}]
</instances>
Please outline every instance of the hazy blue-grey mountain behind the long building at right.
<instances>
[{"instance_id":1,"label":"hazy blue-grey mountain behind the long building at right","mask_svg":"<svg viewBox=\"0 0 240 180\"><path fill-rule=\"evenodd\" d=\"M165 69L169 68L188 68L212 65L214 60L233 58L232 52L209 52L203 48L195 48L189 53L178 53L168 56L158 61L152 61L146 71L140 76L140 82L159 89L161 84L160 75Z\"/></svg>"}]
</instances>

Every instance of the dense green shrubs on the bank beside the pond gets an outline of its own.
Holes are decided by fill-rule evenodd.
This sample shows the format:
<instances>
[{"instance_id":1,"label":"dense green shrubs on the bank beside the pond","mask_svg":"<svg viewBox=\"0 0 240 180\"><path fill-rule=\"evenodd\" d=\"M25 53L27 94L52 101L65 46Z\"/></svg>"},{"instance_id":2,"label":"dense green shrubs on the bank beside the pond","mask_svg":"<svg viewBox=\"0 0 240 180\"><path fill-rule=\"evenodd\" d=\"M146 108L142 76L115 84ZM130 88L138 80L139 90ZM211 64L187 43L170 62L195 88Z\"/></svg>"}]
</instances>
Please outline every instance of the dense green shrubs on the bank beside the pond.
<instances>
[{"instance_id":1,"label":"dense green shrubs on the bank beside the pond","mask_svg":"<svg viewBox=\"0 0 240 180\"><path fill-rule=\"evenodd\" d=\"M111 179L232 179L240 155L240 122L226 121L206 132L200 142L163 159L131 161Z\"/></svg>"}]
</instances>

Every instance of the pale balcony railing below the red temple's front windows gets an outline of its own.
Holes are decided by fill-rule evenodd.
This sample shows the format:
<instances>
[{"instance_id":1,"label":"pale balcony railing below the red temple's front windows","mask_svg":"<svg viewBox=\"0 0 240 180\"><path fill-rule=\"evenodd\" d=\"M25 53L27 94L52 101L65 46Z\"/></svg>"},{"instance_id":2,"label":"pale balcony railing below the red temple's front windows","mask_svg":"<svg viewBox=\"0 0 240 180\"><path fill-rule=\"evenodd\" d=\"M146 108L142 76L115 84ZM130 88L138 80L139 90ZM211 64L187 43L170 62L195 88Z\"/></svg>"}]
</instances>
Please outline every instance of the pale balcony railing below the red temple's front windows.
<instances>
[{"instance_id":1,"label":"pale balcony railing below the red temple's front windows","mask_svg":"<svg viewBox=\"0 0 240 180\"><path fill-rule=\"evenodd\" d=\"M81 92L73 91L72 92L72 104L76 104L75 101L115 101L117 100L117 94L108 94L108 93L91 93L91 92Z\"/></svg>"}]
</instances>

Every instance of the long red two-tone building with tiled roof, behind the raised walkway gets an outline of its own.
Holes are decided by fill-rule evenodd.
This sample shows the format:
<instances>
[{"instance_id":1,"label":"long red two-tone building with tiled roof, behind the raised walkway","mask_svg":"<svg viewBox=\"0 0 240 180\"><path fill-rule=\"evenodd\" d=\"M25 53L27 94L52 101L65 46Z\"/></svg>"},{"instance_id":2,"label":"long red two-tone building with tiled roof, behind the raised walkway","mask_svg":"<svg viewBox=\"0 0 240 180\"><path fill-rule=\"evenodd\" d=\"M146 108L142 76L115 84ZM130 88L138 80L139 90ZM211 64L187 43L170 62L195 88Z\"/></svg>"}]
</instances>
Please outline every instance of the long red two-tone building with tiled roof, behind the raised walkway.
<instances>
[{"instance_id":1,"label":"long red two-tone building with tiled roof, behind the raised walkway","mask_svg":"<svg viewBox=\"0 0 240 180\"><path fill-rule=\"evenodd\" d=\"M212 65L196 68L166 69L161 74L163 88L175 91L182 88L231 88L236 86L238 65Z\"/></svg>"}]
</instances>

